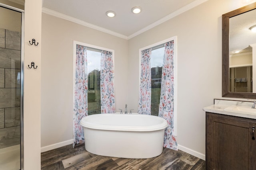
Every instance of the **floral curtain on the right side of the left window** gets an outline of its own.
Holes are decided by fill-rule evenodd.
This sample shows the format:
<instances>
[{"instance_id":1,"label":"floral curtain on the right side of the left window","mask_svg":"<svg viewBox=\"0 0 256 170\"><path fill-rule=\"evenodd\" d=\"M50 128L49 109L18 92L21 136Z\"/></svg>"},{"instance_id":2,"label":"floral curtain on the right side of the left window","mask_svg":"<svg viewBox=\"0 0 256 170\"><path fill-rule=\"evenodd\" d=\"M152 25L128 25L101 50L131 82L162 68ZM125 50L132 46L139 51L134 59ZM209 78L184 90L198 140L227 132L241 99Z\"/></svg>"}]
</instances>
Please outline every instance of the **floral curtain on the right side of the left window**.
<instances>
[{"instance_id":1,"label":"floral curtain on the right side of the left window","mask_svg":"<svg viewBox=\"0 0 256 170\"><path fill-rule=\"evenodd\" d=\"M114 64L112 52L101 52L100 62L101 113L115 113Z\"/></svg>"}]
</instances>

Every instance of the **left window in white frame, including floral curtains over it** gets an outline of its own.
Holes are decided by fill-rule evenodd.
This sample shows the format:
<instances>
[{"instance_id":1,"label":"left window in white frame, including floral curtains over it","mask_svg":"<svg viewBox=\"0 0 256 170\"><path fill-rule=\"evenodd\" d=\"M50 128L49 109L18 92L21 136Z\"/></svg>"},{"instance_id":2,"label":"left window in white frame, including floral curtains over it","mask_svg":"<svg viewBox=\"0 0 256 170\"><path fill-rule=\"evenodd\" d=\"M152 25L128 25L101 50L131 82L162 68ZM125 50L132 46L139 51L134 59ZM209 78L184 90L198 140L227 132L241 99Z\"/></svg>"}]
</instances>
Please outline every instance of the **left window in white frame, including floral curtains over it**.
<instances>
[{"instance_id":1,"label":"left window in white frame, including floral curtains over it","mask_svg":"<svg viewBox=\"0 0 256 170\"><path fill-rule=\"evenodd\" d=\"M114 51L74 41L73 52L75 112L83 110L88 115L114 113ZM83 97L80 100L78 96Z\"/></svg>"}]
</instances>

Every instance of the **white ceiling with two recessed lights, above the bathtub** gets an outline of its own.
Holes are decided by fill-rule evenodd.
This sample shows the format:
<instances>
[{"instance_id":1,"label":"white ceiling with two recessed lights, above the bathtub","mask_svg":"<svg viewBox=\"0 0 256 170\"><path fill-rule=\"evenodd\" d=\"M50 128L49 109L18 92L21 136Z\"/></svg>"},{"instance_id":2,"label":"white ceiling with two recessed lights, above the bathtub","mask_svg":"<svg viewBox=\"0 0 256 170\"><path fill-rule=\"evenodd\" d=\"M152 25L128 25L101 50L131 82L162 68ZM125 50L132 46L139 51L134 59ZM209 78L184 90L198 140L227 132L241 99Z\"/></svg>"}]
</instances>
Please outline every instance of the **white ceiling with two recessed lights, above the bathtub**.
<instances>
[{"instance_id":1,"label":"white ceiling with two recessed lights, above the bathtub","mask_svg":"<svg viewBox=\"0 0 256 170\"><path fill-rule=\"evenodd\" d=\"M43 0L43 12L51 10L120 34L133 37L207 0ZM133 14L132 7L142 12ZM107 11L116 12L114 18ZM47 13L47 12L46 12Z\"/></svg>"}]
</instances>

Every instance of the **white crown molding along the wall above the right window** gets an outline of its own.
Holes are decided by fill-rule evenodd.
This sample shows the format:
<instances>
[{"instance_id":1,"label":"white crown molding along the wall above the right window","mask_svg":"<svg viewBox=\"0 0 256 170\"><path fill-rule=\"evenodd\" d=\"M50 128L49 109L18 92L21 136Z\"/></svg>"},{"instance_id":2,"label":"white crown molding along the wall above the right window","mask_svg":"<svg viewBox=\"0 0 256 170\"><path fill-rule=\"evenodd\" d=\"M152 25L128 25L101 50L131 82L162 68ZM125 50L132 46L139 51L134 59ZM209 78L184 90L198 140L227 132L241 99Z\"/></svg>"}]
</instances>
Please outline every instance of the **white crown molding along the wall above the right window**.
<instances>
[{"instance_id":1,"label":"white crown molding along the wall above the right window","mask_svg":"<svg viewBox=\"0 0 256 170\"><path fill-rule=\"evenodd\" d=\"M133 38L133 37L135 37L135 36L137 36L137 35L139 35L141 33L144 33L146 31L148 31L149 29L151 29L153 27L156 27L157 25L160 25L161 23L164 23L165 21L168 21L168 20L170 20L170 19L172 19L172 18L182 14L183 12L186 12L186 11L188 11L188 10L190 10L190 9L192 9L192 8L198 6L198 5L200 5L200 4L202 4L202 3L206 2L206 1L208 1L208 0L195 0L195 1L191 2L190 4L188 4L188 5L180 8L180 9L172 12L171 14L165 16L164 18L162 18L162 19L160 19L160 20L158 20L158 21L156 21L156 22L154 22L154 23L152 23L152 24L150 24L150 25L140 29L139 31L133 33L132 35L129 35L128 39L131 39L131 38Z\"/></svg>"}]
</instances>

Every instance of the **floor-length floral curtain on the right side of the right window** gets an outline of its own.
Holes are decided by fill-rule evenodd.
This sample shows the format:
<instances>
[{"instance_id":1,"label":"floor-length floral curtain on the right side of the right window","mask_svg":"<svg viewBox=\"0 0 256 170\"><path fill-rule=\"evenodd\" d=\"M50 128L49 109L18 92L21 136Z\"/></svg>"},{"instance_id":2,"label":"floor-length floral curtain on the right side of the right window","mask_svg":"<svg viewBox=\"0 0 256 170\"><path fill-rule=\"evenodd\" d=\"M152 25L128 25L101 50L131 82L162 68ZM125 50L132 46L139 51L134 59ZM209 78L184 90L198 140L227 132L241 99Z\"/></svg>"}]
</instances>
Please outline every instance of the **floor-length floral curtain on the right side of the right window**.
<instances>
[{"instance_id":1,"label":"floor-length floral curtain on the right side of the right window","mask_svg":"<svg viewBox=\"0 0 256 170\"><path fill-rule=\"evenodd\" d=\"M164 62L162 69L162 85L159 106L159 117L166 119L168 126L164 132L164 147L178 150L174 137L174 41L164 45Z\"/></svg>"}]
</instances>

